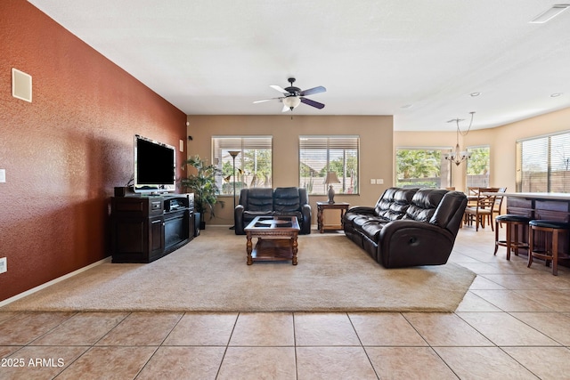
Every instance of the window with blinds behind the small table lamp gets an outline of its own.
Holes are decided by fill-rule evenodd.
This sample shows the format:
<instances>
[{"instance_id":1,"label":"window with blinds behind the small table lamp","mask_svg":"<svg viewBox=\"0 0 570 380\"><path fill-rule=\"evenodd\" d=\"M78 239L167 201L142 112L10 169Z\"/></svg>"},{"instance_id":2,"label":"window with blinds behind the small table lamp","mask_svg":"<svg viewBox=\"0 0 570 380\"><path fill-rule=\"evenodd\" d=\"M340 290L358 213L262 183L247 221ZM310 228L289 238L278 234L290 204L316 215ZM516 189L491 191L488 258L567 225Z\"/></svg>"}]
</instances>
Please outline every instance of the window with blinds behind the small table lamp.
<instances>
[{"instance_id":1,"label":"window with blinds behind the small table lamp","mask_svg":"<svg viewBox=\"0 0 570 380\"><path fill-rule=\"evenodd\" d=\"M359 136L299 136L299 187L310 195L327 194L328 172L337 174L332 183L337 194L358 194Z\"/></svg>"}]
</instances>

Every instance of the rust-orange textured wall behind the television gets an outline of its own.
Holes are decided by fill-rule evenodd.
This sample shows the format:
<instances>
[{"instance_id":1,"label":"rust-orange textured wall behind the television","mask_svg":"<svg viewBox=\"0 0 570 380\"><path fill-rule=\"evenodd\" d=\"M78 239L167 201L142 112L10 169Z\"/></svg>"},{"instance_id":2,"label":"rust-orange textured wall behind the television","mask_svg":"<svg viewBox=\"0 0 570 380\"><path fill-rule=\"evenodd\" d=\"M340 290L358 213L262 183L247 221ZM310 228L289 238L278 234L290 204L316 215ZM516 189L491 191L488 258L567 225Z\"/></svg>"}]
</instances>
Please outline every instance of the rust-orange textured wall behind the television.
<instances>
[{"instance_id":1,"label":"rust-orange textured wall behind the television","mask_svg":"<svg viewBox=\"0 0 570 380\"><path fill-rule=\"evenodd\" d=\"M33 77L32 103L12 97L12 68ZM3 0L0 301L109 256L110 197L133 174L134 134L178 147L185 123L36 7Z\"/></svg>"}]
</instances>

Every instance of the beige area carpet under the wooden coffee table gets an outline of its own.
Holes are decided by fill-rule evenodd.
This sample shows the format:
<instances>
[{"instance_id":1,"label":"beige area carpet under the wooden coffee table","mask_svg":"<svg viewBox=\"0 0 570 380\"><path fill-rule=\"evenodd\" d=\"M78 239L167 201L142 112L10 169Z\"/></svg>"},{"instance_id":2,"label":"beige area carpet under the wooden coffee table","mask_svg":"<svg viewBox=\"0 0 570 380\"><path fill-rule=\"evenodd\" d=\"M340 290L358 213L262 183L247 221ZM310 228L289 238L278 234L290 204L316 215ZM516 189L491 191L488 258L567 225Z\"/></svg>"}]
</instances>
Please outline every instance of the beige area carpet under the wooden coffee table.
<instances>
[{"instance_id":1,"label":"beige area carpet under the wooden coffee table","mask_svg":"<svg viewBox=\"0 0 570 380\"><path fill-rule=\"evenodd\" d=\"M0 311L455 311L475 276L387 270L342 233L299 236L297 265L247 265L245 236L208 227L156 262L102 263Z\"/></svg>"}]
</instances>

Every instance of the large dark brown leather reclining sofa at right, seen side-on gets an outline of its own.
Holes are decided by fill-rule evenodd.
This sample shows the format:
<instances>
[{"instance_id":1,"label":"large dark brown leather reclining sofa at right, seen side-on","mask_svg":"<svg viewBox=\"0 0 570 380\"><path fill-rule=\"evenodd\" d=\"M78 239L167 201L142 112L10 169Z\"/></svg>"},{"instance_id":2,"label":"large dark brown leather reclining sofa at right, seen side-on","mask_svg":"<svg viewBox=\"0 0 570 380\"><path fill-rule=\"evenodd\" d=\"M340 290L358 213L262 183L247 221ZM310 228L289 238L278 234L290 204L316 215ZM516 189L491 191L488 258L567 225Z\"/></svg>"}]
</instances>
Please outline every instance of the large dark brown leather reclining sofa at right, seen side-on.
<instances>
[{"instance_id":1,"label":"large dark brown leather reclining sofa at right, seen side-on","mask_svg":"<svg viewBox=\"0 0 570 380\"><path fill-rule=\"evenodd\" d=\"M386 268L447 263L467 197L460 191L384 191L376 206L354 206L343 217L346 237Z\"/></svg>"}]
</instances>

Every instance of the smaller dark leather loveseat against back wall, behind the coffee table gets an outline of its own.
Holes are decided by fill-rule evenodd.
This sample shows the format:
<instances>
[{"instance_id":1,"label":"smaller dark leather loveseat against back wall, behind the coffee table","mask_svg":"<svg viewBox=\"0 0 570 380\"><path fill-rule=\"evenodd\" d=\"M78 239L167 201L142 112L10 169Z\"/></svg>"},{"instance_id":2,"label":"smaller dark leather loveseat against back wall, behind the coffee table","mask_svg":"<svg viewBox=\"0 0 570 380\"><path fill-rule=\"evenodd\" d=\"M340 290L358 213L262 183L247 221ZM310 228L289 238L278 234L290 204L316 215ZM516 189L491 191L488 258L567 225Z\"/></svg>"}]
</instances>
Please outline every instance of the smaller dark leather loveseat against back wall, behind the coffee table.
<instances>
[{"instance_id":1,"label":"smaller dark leather loveseat against back wall, behind the coffee table","mask_svg":"<svg viewBox=\"0 0 570 380\"><path fill-rule=\"evenodd\" d=\"M233 211L235 234L245 235L243 229L256 216L297 216L299 234L311 233L311 206L304 188L242 189Z\"/></svg>"}]
</instances>

